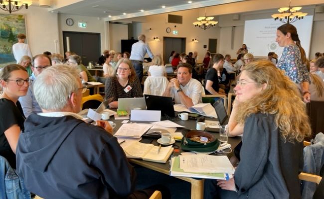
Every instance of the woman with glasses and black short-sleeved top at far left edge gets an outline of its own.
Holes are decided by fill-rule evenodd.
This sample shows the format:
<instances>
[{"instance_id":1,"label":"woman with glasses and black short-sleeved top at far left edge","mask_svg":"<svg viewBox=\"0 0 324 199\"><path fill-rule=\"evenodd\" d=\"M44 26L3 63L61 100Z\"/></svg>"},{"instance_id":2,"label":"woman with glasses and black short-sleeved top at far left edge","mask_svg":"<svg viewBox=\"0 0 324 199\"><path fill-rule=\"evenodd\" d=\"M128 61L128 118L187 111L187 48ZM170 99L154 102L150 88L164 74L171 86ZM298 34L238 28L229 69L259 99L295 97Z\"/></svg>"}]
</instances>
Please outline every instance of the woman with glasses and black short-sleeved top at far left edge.
<instances>
[{"instance_id":1,"label":"woman with glasses and black short-sleeved top at far left edge","mask_svg":"<svg viewBox=\"0 0 324 199\"><path fill-rule=\"evenodd\" d=\"M26 69L20 65L7 65L0 73L0 156L12 168L16 168L16 146L25 120L18 98L26 95L30 83Z\"/></svg>"}]
</instances>

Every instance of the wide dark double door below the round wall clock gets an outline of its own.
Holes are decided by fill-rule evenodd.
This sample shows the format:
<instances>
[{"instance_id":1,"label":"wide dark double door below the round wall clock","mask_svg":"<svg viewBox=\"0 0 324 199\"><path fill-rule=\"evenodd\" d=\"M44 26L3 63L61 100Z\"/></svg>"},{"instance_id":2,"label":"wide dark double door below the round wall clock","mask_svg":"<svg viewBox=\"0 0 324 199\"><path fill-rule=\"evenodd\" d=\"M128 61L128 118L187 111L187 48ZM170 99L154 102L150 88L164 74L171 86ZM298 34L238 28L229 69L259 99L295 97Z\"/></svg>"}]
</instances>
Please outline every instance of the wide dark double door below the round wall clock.
<instances>
[{"instance_id":1,"label":"wide dark double door below the round wall clock","mask_svg":"<svg viewBox=\"0 0 324 199\"><path fill-rule=\"evenodd\" d=\"M100 33L63 31L64 52L67 51L67 41L70 51L81 57L83 65L88 66L90 61L93 63L98 61L101 55Z\"/></svg>"}]
</instances>

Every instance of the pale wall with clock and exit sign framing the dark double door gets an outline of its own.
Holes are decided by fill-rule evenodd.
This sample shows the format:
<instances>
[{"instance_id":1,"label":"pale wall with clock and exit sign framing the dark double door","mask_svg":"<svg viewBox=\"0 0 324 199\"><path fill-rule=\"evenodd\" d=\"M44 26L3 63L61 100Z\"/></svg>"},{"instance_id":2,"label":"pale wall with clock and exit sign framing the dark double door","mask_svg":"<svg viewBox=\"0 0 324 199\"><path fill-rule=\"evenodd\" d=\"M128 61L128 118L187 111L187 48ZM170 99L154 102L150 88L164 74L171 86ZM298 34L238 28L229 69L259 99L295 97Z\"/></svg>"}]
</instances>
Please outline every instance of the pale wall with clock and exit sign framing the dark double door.
<instances>
[{"instance_id":1,"label":"pale wall with clock and exit sign framing the dark double door","mask_svg":"<svg viewBox=\"0 0 324 199\"><path fill-rule=\"evenodd\" d=\"M66 24L66 19L72 18L74 20L74 24L72 26L68 26ZM86 22L86 28L80 28L78 26L78 22ZM63 54L63 31L72 31L72 32L92 32L92 33L100 33L101 39L101 52L104 51L108 46L108 37L105 33L106 22L100 17L91 17L91 16L80 16L80 15L71 15L71 14L58 14L58 32L60 38L60 53ZM100 56L100 55L98 55Z\"/></svg>"}]
</instances>

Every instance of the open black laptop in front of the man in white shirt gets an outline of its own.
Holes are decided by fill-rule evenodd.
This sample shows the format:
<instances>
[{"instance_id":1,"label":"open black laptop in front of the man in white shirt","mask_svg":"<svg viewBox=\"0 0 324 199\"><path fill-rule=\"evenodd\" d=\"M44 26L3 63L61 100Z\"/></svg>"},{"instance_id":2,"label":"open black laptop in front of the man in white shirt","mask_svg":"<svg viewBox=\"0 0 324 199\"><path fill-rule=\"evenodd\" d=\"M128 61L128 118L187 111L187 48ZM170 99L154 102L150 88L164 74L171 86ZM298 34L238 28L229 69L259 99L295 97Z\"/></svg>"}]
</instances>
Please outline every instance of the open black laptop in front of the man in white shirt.
<instances>
[{"instance_id":1,"label":"open black laptop in front of the man in white shirt","mask_svg":"<svg viewBox=\"0 0 324 199\"><path fill-rule=\"evenodd\" d=\"M161 116L175 116L171 97L144 95L144 98L148 110L161 110Z\"/></svg>"}]
</instances>

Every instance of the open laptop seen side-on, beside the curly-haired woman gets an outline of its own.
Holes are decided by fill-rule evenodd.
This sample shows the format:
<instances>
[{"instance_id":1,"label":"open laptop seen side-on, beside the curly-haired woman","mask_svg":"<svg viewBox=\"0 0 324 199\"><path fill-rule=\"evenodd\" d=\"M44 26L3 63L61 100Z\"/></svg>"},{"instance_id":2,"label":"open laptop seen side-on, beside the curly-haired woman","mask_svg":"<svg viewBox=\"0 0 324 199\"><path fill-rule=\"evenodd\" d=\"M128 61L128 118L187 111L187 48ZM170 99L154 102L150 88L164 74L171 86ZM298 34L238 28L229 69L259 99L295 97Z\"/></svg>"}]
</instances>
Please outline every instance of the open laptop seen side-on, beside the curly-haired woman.
<instances>
[{"instance_id":1,"label":"open laptop seen side-on, beside the curly-haired woman","mask_svg":"<svg viewBox=\"0 0 324 199\"><path fill-rule=\"evenodd\" d=\"M228 124L229 117L227 115L223 100L222 99L216 100L215 103L213 104L213 107L215 108L219 124L220 125ZM212 132L219 132L218 125L215 125L215 127L211 127L209 125L208 127L206 127L206 130Z\"/></svg>"}]
</instances>

